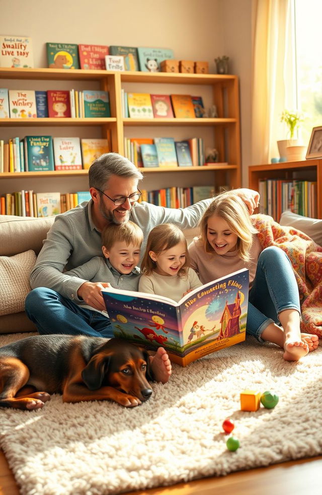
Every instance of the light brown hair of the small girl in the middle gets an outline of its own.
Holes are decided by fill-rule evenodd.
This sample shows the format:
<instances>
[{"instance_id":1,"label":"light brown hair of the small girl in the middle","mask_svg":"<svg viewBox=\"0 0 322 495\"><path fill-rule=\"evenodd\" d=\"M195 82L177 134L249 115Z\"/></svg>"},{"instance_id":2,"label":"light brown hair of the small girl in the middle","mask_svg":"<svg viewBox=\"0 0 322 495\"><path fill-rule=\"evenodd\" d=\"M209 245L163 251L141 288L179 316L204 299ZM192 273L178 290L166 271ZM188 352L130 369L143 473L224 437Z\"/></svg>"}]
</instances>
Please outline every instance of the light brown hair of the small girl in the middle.
<instances>
[{"instance_id":1,"label":"light brown hair of the small girl in the middle","mask_svg":"<svg viewBox=\"0 0 322 495\"><path fill-rule=\"evenodd\" d=\"M162 223L160 225L156 225L156 227L152 228L150 231L141 263L141 272L144 275L150 275L156 268L155 261L153 261L149 255L150 251L153 251L153 253L159 255L163 251L167 251L168 249L171 249L175 245L179 244L179 242L184 242L185 244L186 261L180 268L178 276L187 276L187 270L190 264L187 251L187 240L181 228L173 223Z\"/></svg>"}]
</instances>

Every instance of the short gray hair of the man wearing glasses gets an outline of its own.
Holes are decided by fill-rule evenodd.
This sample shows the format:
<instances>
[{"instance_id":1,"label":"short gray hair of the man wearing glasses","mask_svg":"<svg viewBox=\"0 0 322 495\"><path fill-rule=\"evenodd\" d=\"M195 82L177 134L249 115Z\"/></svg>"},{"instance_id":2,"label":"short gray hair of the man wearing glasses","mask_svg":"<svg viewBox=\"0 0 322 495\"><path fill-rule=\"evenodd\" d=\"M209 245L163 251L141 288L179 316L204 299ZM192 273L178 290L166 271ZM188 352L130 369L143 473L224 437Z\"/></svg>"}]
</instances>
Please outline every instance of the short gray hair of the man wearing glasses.
<instances>
[{"instance_id":1,"label":"short gray hair of the man wearing glasses","mask_svg":"<svg viewBox=\"0 0 322 495\"><path fill-rule=\"evenodd\" d=\"M119 153L104 153L93 161L89 170L90 188L104 191L112 175L128 179L143 179L135 165Z\"/></svg>"}]
</instances>

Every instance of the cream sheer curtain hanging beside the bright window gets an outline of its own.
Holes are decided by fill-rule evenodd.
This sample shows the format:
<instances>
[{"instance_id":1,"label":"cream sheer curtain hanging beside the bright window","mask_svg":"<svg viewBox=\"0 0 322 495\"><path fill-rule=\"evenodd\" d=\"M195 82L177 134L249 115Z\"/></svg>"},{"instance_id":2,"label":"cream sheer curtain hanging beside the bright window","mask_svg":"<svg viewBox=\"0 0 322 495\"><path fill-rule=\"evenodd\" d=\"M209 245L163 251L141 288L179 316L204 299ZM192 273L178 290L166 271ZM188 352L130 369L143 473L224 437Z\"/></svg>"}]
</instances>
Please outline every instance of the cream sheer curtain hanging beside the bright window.
<instances>
[{"instance_id":1,"label":"cream sheer curtain hanging beside the bright window","mask_svg":"<svg viewBox=\"0 0 322 495\"><path fill-rule=\"evenodd\" d=\"M282 111L296 108L292 0L253 0L252 164L279 156Z\"/></svg>"}]
</instances>

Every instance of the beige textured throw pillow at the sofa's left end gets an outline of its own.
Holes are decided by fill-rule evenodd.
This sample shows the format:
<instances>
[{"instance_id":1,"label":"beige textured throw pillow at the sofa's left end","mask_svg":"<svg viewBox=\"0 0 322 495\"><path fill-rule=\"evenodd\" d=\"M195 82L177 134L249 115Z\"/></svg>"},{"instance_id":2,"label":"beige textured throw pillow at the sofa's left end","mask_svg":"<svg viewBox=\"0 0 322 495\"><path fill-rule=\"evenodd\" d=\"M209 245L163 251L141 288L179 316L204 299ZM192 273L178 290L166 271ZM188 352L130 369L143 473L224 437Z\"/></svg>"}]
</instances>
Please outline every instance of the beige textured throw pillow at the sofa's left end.
<instances>
[{"instance_id":1,"label":"beige textured throw pillow at the sofa's left end","mask_svg":"<svg viewBox=\"0 0 322 495\"><path fill-rule=\"evenodd\" d=\"M35 262L36 255L32 250L15 256L0 256L0 316L24 311Z\"/></svg>"}]
</instances>

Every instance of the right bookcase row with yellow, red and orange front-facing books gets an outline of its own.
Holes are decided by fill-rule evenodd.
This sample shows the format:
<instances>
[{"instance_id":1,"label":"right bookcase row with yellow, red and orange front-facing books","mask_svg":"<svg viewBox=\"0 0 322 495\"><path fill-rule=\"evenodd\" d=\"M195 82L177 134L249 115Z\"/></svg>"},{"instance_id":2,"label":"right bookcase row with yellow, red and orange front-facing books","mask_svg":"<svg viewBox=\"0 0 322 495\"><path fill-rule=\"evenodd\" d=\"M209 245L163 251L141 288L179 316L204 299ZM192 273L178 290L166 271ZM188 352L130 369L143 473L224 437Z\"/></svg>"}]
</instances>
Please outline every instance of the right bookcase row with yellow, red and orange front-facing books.
<instances>
[{"instance_id":1,"label":"right bookcase row with yellow, red and orange front-facing books","mask_svg":"<svg viewBox=\"0 0 322 495\"><path fill-rule=\"evenodd\" d=\"M201 96L150 95L121 90L122 115L133 119L195 119L205 115Z\"/></svg>"}]
</instances>

